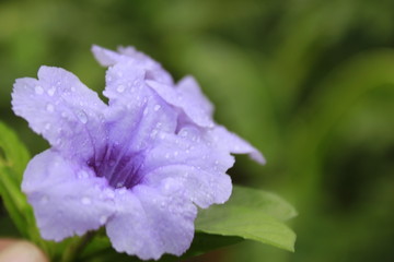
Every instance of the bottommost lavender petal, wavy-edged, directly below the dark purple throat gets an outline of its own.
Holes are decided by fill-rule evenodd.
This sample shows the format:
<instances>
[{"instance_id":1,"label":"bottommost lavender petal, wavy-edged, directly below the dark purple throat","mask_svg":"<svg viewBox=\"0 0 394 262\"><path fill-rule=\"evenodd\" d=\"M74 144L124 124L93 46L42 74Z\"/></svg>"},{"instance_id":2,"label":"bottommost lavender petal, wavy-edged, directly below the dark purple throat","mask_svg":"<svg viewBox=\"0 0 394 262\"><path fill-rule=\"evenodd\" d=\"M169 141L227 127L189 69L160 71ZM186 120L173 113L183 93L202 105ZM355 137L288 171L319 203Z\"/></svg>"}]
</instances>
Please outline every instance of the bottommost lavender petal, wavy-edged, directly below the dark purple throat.
<instances>
[{"instance_id":1,"label":"bottommost lavender petal, wavy-edged, directly below the dark purple throat","mask_svg":"<svg viewBox=\"0 0 394 262\"><path fill-rule=\"evenodd\" d=\"M113 247L143 260L184 253L193 240L197 209L178 195L179 190L175 180L165 181L161 188L118 190L118 213L106 225Z\"/></svg>"}]
</instances>

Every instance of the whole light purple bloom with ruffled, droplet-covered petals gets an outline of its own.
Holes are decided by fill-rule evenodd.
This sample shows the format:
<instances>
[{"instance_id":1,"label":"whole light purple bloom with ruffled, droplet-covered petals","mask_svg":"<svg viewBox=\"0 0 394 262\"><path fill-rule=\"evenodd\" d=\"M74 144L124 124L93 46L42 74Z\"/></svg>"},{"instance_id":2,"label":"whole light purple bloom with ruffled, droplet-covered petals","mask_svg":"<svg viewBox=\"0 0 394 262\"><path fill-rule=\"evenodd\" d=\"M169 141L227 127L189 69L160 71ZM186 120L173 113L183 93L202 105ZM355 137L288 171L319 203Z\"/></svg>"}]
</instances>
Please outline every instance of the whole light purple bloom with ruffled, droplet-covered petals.
<instances>
[{"instance_id":1,"label":"whole light purple bloom with ruffled, droplet-covered petals","mask_svg":"<svg viewBox=\"0 0 394 262\"><path fill-rule=\"evenodd\" d=\"M43 238L60 241L105 226L113 247L141 259L181 255L197 206L224 203L230 153L264 158L212 120L197 82L174 84L134 48L93 53L106 72L103 103L63 69L16 80L12 106L51 147L28 164L22 190Z\"/></svg>"}]
</instances>

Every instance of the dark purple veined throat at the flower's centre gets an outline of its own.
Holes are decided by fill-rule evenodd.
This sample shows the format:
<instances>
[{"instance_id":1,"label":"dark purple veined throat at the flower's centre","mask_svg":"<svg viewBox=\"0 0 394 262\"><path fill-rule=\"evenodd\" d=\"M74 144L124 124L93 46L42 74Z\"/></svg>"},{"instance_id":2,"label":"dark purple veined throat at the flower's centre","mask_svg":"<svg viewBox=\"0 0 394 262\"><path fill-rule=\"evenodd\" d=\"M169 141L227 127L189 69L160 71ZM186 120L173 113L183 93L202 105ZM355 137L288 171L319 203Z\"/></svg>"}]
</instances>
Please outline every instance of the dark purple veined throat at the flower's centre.
<instances>
[{"instance_id":1,"label":"dark purple veined throat at the flower's centre","mask_svg":"<svg viewBox=\"0 0 394 262\"><path fill-rule=\"evenodd\" d=\"M105 177L111 187L130 189L141 182L140 168L144 158L141 152L126 153L107 146L100 155L99 159L91 158L88 165L97 177Z\"/></svg>"}]
</instances>

